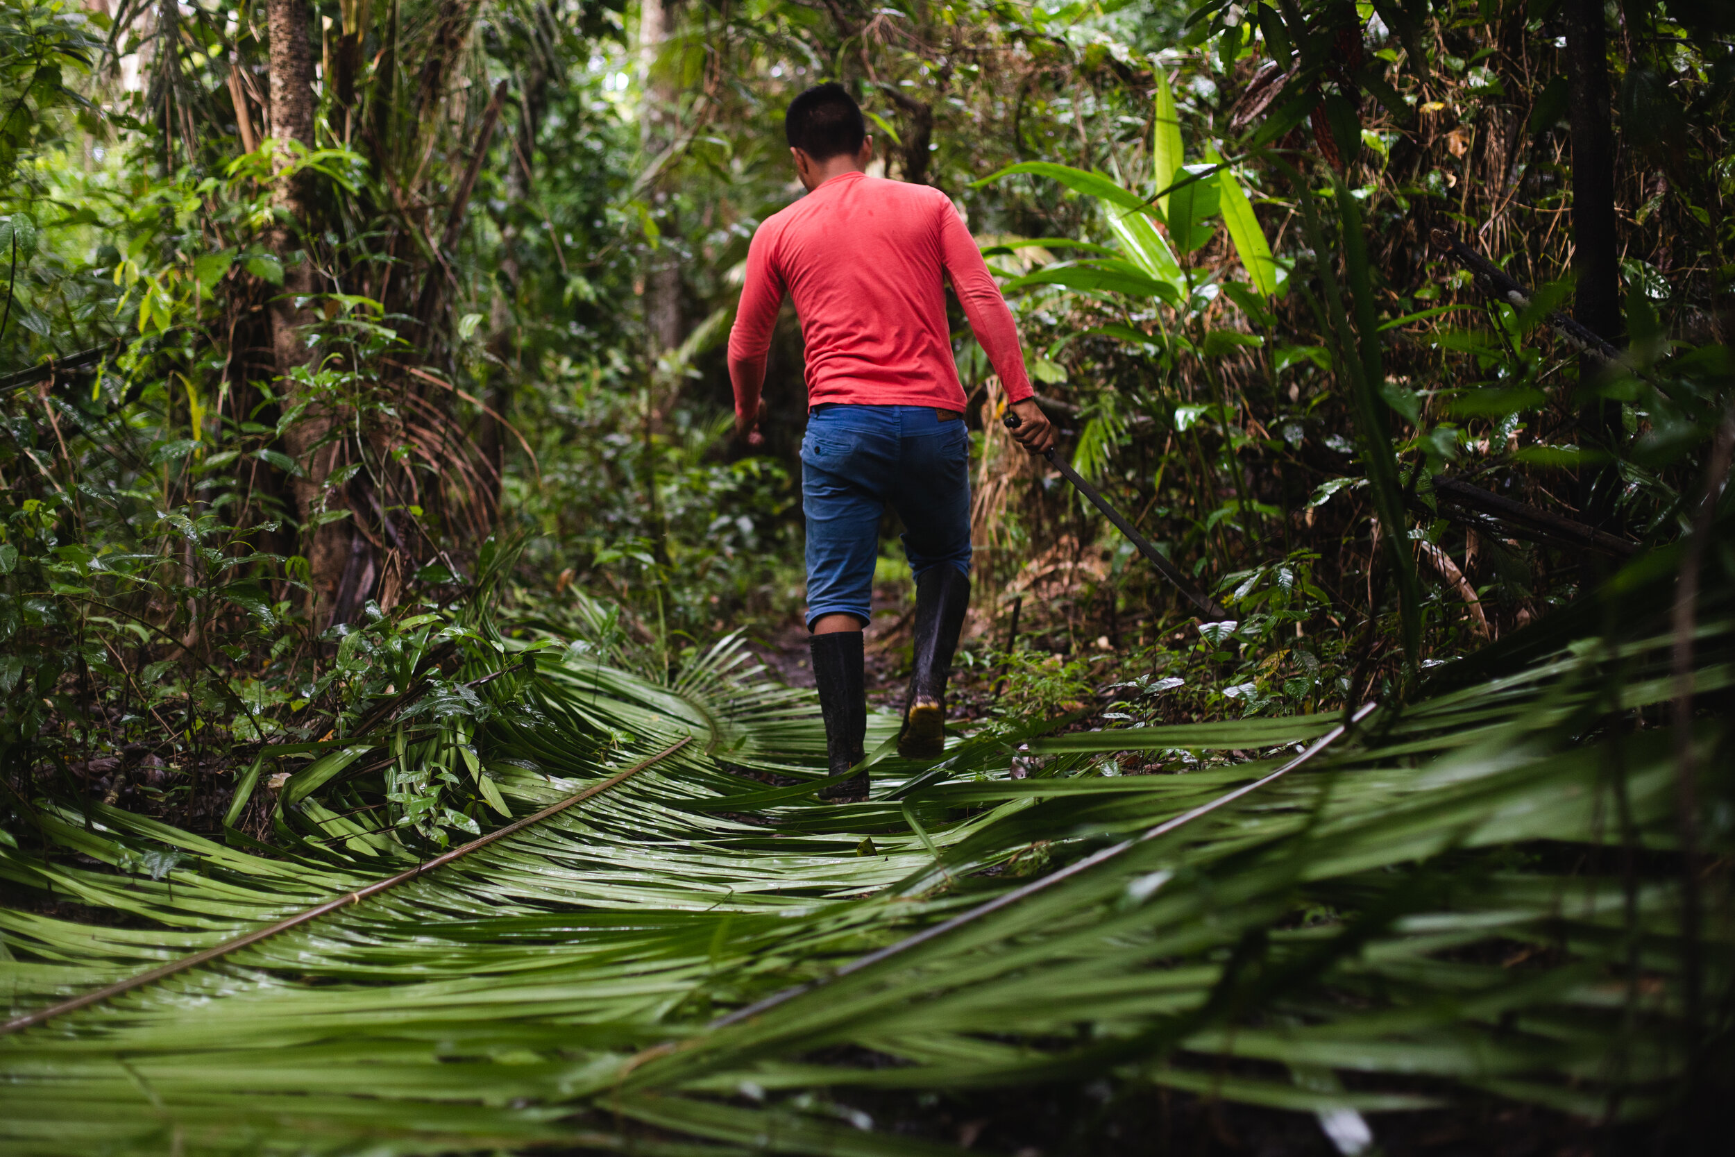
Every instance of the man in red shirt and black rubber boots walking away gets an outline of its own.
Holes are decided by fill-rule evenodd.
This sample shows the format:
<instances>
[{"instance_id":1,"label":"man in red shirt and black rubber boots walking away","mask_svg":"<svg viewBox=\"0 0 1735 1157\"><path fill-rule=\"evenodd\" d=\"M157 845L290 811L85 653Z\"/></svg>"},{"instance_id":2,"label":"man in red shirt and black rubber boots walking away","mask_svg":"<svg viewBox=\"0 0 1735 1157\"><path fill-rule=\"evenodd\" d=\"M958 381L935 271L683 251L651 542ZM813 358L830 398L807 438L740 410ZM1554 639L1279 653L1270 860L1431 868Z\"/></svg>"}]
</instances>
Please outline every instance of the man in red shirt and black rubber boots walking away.
<instances>
[{"instance_id":1,"label":"man in red shirt and black rubber boots walking away","mask_svg":"<svg viewBox=\"0 0 1735 1157\"><path fill-rule=\"evenodd\" d=\"M765 409L765 354L788 291L807 359L807 630L831 774L841 775L864 755L862 628L887 503L904 520L916 576L914 671L897 751L932 760L946 741L946 678L970 605L970 435L947 281L1022 420L1013 435L1031 453L1055 435L1031 397L1012 310L946 194L866 173L873 141L840 85L798 95L784 134L809 194L753 234L729 376L736 432L746 437ZM822 794L864 800L868 772Z\"/></svg>"}]
</instances>

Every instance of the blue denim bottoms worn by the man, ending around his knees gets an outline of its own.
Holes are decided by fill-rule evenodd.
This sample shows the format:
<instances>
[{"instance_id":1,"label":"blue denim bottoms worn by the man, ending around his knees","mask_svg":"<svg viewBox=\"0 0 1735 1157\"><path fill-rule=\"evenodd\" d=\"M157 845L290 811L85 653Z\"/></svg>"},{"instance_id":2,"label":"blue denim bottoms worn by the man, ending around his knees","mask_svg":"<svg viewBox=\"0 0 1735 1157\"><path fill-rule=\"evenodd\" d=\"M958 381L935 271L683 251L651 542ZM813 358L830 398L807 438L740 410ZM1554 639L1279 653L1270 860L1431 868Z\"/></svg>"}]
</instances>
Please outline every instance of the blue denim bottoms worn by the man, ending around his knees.
<instances>
[{"instance_id":1,"label":"blue denim bottoms worn by the man, ending around his knees","mask_svg":"<svg viewBox=\"0 0 1735 1157\"><path fill-rule=\"evenodd\" d=\"M873 567L887 503L904 520L904 553L921 578L970 574L970 432L932 406L819 406L802 439L807 515L807 624L871 616Z\"/></svg>"}]
</instances>

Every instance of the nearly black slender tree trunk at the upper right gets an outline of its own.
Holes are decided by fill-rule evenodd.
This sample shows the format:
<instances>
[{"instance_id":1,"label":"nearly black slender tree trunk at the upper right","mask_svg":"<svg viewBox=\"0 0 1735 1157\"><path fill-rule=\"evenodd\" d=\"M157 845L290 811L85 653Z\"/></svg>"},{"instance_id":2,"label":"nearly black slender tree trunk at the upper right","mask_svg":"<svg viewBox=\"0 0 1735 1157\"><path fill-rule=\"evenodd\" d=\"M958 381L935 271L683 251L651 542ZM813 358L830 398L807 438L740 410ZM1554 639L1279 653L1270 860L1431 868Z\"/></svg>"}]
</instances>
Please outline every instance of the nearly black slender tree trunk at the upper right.
<instances>
[{"instance_id":1,"label":"nearly black slender tree trunk at the upper right","mask_svg":"<svg viewBox=\"0 0 1735 1157\"><path fill-rule=\"evenodd\" d=\"M1603 0L1565 0L1567 71L1572 85L1572 271L1577 286L1572 316L1593 333L1620 343L1620 239L1615 236L1615 147L1608 99L1608 33ZM1579 359L1579 380L1589 382L1598 363ZM1614 446L1620 408L1586 397L1579 411L1581 441ZM1593 526L1608 519L1612 494L1600 470L1584 470L1579 510Z\"/></svg>"}]
</instances>

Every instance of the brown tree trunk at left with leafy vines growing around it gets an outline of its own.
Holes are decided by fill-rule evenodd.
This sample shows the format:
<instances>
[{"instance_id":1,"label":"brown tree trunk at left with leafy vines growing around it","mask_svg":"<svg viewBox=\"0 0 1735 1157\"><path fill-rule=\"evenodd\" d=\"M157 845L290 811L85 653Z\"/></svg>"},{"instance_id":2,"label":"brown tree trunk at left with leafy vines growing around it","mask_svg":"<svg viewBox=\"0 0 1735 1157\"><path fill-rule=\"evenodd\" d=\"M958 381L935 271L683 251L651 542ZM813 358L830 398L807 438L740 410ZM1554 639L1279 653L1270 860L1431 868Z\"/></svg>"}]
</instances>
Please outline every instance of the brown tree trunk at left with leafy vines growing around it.
<instances>
[{"instance_id":1,"label":"brown tree trunk at left with leafy vines growing around it","mask_svg":"<svg viewBox=\"0 0 1735 1157\"><path fill-rule=\"evenodd\" d=\"M297 141L312 146L314 141L314 69L309 49L312 16L307 0L269 0L265 19L271 31L271 135L279 142L274 154L278 170L272 199L288 213L291 224L272 229L269 243L283 262L283 290L271 302L271 350L278 369L278 392L285 408L309 401L305 390L291 376L307 363L307 340L302 335L312 316L297 307L297 298L314 291L312 264L300 253L297 227L307 229L312 212L312 180L309 173L290 175L285 170L290 154L283 142ZM309 406L302 420L283 432L285 446L300 468L290 487L295 494L295 513L302 522L300 550L307 559L312 590L307 614L314 630L324 626L330 616L337 585L347 562L344 531L331 524L314 526L324 480L331 474L337 448L321 446L331 432L333 418L318 402Z\"/></svg>"}]
</instances>

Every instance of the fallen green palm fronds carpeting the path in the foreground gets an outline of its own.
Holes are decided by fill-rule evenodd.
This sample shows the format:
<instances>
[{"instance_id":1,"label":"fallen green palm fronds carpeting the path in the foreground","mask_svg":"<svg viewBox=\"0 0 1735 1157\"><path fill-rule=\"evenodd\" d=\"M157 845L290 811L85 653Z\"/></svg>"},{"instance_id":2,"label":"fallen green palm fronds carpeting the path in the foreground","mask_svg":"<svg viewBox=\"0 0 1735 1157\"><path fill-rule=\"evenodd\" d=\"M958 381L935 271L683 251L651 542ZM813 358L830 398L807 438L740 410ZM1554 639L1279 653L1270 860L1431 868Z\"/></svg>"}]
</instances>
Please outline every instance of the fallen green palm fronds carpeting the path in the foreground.
<instances>
[{"instance_id":1,"label":"fallen green palm fronds carpeting the path in the foreground","mask_svg":"<svg viewBox=\"0 0 1735 1157\"><path fill-rule=\"evenodd\" d=\"M1095 1079L1319 1114L1345 1152L1367 1114L1473 1095L1655 1115L1726 1034L1688 1010L1723 1008L1735 940L1716 878L1679 888L1681 735L1655 727L1683 673L1726 703L1735 574L1706 560L1683 670L1647 611L1669 562L1187 822L1343 718L991 729L933 767L883 760L873 800L826 807L810 701L737 642L675 683L547 650L475 742L514 812L697 742L366 904L7 1036L0 1150L935 1152L876 1131L850 1089ZM1719 800L1723 718L1690 735ZM1126 774L1145 762L1157 774ZM0 914L19 1011L380 864L347 838L356 817L312 820L349 850L286 859L102 805L33 817L0 873L111 919ZM722 1016L789 985L809 987Z\"/></svg>"}]
</instances>

